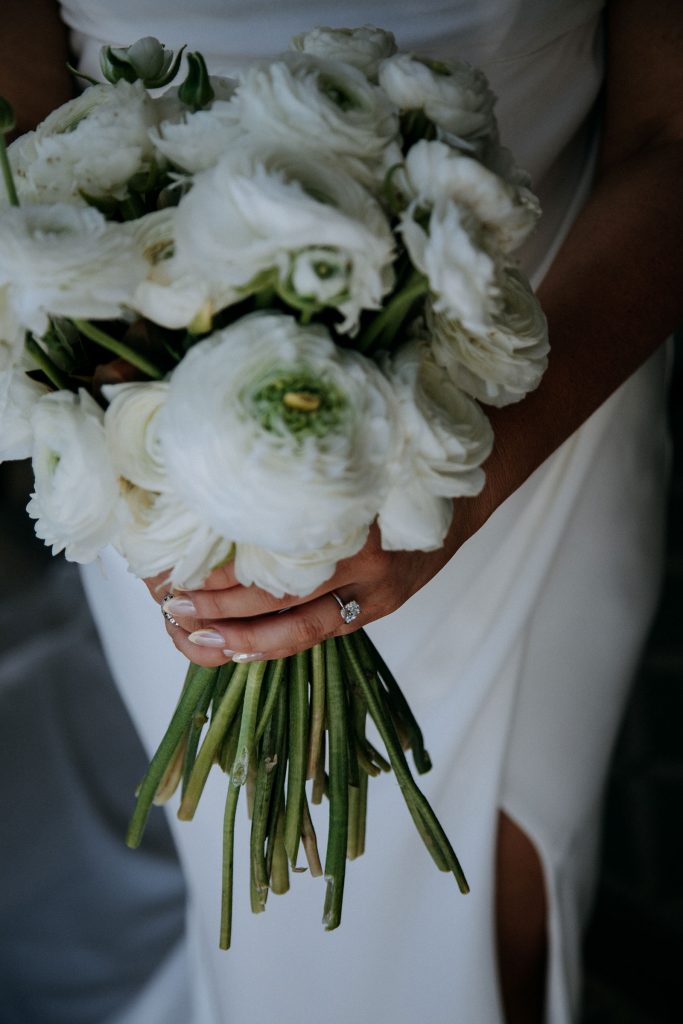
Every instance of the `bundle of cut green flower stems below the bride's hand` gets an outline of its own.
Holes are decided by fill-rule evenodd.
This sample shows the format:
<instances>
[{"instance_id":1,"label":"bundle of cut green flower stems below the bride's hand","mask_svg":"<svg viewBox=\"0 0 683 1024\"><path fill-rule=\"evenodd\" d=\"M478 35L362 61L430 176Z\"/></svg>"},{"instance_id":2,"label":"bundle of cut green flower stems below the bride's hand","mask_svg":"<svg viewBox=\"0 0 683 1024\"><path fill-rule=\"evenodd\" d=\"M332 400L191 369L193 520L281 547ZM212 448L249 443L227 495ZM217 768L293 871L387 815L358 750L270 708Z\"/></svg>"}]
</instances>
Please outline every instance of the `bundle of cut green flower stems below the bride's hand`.
<instances>
[{"instance_id":1,"label":"bundle of cut green flower stems below the bride's hand","mask_svg":"<svg viewBox=\"0 0 683 1024\"><path fill-rule=\"evenodd\" d=\"M366 734L368 716L384 757ZM209 771L228 775L223 822L220 946L229 948L236 812L247 793L251 816L250 900L265 909L268 892L289 889L303 847L308 869L323 874L310 801L327 797L327 890L323 923L341 922L346 860L365 850L368 782L393 770L408 809L436 866L468 891L460 862L413 778L431 767L420 727L398 684L367 634L332 638L293 657L219 669L190 665L175 713L137 793L127 843L139 845L153 804L180 785L178 817L190 819Z\"/></svg>"}]
</instances>

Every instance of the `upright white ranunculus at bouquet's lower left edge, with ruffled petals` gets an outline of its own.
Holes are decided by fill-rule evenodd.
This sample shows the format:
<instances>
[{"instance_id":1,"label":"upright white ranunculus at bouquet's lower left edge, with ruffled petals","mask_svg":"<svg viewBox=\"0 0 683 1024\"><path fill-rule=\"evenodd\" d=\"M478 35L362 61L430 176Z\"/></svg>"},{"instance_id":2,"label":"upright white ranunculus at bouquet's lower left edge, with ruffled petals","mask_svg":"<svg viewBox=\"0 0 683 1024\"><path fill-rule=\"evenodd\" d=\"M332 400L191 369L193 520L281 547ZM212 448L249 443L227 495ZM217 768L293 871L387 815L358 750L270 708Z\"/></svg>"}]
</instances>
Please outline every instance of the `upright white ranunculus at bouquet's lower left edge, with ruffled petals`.
<instances>
[{"instance_id":1,"label":"upright white ranunculus at bouquet's lower left edge, with ruffled petals","mask_svg":"<svg viewBox=\"0 0 683 1024\"><path fill-rule=\"evenodd\" d=\"M90 562L119 530L119 481L106 451L104 414L90 395L54 391L34 407L36 535L69 561Z\"/></svg>"}]
</instances>

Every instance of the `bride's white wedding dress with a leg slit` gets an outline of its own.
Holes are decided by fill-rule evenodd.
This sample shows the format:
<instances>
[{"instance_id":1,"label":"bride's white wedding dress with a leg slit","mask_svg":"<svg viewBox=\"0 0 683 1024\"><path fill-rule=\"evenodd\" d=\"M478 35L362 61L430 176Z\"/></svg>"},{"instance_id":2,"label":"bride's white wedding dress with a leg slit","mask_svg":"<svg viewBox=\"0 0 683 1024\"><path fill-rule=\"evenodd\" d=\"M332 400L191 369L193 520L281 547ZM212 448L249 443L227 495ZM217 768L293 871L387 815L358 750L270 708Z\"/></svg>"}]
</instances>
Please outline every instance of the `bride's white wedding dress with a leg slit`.
<instances>
[{"instance_id":1,"label":"bride's white wedding dress with a leg slit","mask_svg":"<svg viewBox=\"0 0 683 1024\"><path fill-rule=\"evenodd\" d=\"M156 35L213 70L284 49L315 25L373 23L401 48L464 56L499 95L504 142L545 217L523 253L539 282L588 188L602 80L600 0L67 0L82 67L103 42ZM552 341L552 339L551 339ZM119 1024L500 1024L494 855L499 809L540 851L550 906L549 1024L575 1019L607 760L656 588L666 475L665 357L655 355L512 496L452 562L370 633L422 724L422 780L471 894L434 869L392 778L370 786L366 855L349 864L341 928L321 925L324 884L293 878L266 913L248 906L239 817L233 948L217 948L225 780L193 823L171 817L189 892L186 956ZM117 556L86 568L112 669L146 748L173 709L184 660ZM178 966L179 965L179 966Z\"/></svg>"}]
</instances>

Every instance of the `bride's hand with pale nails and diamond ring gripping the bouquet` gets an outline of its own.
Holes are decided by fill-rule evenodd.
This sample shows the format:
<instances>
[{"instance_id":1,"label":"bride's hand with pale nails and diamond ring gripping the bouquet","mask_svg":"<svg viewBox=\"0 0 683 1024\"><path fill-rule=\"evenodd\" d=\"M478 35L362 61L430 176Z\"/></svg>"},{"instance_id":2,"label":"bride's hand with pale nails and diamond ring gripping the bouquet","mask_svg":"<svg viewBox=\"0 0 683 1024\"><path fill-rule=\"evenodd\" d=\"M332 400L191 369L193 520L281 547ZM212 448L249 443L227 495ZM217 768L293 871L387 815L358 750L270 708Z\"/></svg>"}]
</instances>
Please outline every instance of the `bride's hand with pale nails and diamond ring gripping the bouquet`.
<instances>
[{"instance_id":1,"label":"bride's hand with pale nails and diamond ring gripping the bouquet","mask_svg":"<svg viewBox=\"0 0 683 1024\"><path fill-rule=\"evenodd\" d=\"M352 633L394 611L446 563L458 546L452 530L438 551L384 551L373 526L365 547L337 565L335 574L306 597L272 597L258 587L243 587L230 563L215 569L201 590L168 588L164 577L145 583L162 603L175 646L198 665L285 657L332 636ZM357 601L360 612L346 624L342 603Z\"/></svg>"}]
</instances>

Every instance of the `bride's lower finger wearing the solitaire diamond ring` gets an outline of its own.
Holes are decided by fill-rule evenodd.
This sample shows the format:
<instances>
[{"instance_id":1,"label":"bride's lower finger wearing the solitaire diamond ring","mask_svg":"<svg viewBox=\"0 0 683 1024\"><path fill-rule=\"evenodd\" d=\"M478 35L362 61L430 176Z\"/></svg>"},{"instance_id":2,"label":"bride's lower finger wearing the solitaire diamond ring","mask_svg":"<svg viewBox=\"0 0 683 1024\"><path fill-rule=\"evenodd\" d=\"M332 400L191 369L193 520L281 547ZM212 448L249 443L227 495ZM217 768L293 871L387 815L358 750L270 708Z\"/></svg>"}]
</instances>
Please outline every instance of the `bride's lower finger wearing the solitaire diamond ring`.
<instances>
[{"instance_id":1,"label":"bride's lower finger wearing the solitaire diamond ring","mask_svg":"<svg viewBox=\"0 0 683 1024\"><path fill-rule=\"evenodd\" d=\"M340 598L342 603L351 600L346 594L341 594ZM212 622L191 633L181 627L169 630L169 633L176 647L190 660L216 666L230 659L286 657L328 637L351 633L370 617L373 616L366 616L361 608L356 618L346 623L341 616L338 601L328 592L282 615L229 618Z\"/></svg>"}]
</instances>

